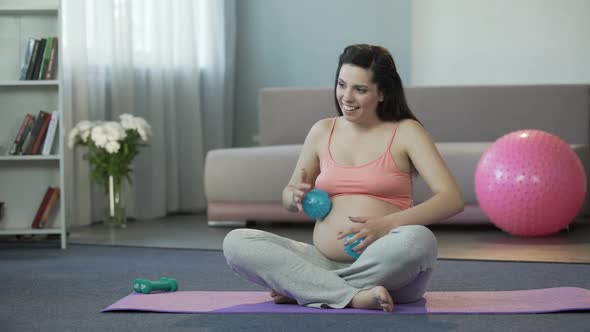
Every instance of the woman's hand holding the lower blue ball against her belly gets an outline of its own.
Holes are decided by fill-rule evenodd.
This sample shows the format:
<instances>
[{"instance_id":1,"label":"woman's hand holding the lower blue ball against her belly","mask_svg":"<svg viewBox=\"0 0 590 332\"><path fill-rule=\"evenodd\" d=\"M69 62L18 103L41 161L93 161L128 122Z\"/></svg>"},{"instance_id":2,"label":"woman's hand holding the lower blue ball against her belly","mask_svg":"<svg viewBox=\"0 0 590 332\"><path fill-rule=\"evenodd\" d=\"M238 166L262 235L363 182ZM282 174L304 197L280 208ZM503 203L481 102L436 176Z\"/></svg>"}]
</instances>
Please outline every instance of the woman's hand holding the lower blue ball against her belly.
<instances>
[{"instance_id":1,"label":"woman's hand holding the lower blue ball against her belly","mask_svg":"<svg viewBox=\"0 0 590 332\"><path fill-rule=\"evenodd\" d=\"M348 217L348 219L355 224L348 230L339 232L338 240L345 238L348 234L357 233L345 241L344 245L364 238L361 243L352 248L358 253L363 252L371 243L387 235L391 230L391 226L383 217Z\"/></svg>"}]
</instances>

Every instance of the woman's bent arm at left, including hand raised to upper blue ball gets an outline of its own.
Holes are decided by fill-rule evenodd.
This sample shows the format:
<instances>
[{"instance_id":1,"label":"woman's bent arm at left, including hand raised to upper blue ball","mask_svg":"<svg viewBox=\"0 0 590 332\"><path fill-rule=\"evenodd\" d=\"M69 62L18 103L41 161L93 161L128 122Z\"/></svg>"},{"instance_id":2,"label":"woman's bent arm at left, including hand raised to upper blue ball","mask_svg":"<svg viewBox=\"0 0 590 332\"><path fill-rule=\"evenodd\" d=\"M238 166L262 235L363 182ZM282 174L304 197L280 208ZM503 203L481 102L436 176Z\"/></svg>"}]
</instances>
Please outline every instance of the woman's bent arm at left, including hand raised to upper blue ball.
<instances>
[{"instance_id":1,"label":"woman's bent arm at left, including hand raised to upper blue ball","mask_svg":"<svg viewBox=\"0 0 590 332\"><path fill-rule=\"evenodd\" d=\"M283 190L283 207L291 212L303 210L301 199L313 187L320 173L318 151L329 121L329 119L320 120L311 127L299 153L293 175Z\"/></svg>"}]
</instances>

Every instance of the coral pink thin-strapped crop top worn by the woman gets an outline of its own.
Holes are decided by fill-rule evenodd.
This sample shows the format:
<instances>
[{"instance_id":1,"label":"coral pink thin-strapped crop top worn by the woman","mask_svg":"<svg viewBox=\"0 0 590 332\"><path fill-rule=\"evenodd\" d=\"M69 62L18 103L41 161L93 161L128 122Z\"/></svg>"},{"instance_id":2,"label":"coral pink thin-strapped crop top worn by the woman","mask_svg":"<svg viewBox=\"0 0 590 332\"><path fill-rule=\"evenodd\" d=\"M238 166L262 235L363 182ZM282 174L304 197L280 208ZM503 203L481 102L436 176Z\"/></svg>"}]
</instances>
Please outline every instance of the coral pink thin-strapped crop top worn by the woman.
<instances>
[{"instance_id":1,"label":"coral pink thin-strapped crop top worn by the woman","mask_svg":"<svg viewBox=\"0 0 590 332\"><path fill-rule=\"evenodd\" d=\"M320 174L315 187L326 191L330 197L367 195L402 209L411 207L412 176L397 168L390 152L397 126L387 148L377 159L360 166L340 166L330 152L336 119L332 122L328 147L320 160Z\"/></svg>"}]
</instances>

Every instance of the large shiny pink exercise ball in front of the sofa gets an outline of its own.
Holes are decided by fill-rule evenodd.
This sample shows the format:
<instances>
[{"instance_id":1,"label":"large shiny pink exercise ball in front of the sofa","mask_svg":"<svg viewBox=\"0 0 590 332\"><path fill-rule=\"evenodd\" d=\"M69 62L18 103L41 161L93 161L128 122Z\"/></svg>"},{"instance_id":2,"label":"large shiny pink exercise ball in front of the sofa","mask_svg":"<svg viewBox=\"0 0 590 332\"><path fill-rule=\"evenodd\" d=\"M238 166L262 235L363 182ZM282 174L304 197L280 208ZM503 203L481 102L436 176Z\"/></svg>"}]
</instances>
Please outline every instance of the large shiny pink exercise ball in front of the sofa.
<instances>
[{"instance_id":1,"label":"large shiny pink exercise ball in front of the sofa","mask_svg":"<svg viewBox=\"0 0 590 332\"><path fill-rule=\"evenodd\" d=\"M526 129L500 137L475 171L479 206L500 229L545 236L565 228L586 197L584 166L559 137Z\"/></svg>"}]
</instances>

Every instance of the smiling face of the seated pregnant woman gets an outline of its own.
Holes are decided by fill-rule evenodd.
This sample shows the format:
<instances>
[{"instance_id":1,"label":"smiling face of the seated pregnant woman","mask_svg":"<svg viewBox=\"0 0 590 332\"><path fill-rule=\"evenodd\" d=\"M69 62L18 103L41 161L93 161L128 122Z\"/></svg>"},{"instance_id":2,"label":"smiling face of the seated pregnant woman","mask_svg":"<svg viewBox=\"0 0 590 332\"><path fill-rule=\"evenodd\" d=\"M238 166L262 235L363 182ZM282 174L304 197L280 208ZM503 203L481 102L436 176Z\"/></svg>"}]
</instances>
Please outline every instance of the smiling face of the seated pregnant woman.
<instances>
[{"instance_id":1,"label":"smiling face of the seated pregnant woman","mask_svg":"<svg viewBox=\"0 0 590 332\"><path fill-rule=\"evenodd\" d=\"M344 64L336 83L336 99L344 117L358 123L377 117L377 106L383 101L383 94L373 83L371 71Z\"/></svg>"}]
</instances>

